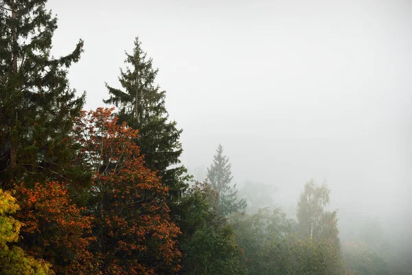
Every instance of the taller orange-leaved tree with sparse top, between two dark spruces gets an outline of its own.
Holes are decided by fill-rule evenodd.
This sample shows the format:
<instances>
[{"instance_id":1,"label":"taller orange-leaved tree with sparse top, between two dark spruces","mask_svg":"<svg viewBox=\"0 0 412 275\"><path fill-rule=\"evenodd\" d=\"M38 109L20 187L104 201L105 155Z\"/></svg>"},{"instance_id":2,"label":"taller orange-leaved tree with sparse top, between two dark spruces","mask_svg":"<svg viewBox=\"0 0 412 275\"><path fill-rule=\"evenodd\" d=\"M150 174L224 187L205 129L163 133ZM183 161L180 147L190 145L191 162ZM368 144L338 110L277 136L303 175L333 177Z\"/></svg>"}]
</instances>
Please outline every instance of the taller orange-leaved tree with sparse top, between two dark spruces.
<instances>
[{"instance_id":1,"label":"taller orange-leaved tree with sparse top, between two dark spruces","mask_svg":"<svg viewBox=\"0 0 412 275\"><path fill-rule=\"evenodd\" d=\"M95 217L93 252L103 274L158 274L179 270L179 228L170 222L168 188L133 142L137 131L116 124L113 109L84 112L76 122L78 162L94 171L89 210Z\"/></svg>"}]
</instances>

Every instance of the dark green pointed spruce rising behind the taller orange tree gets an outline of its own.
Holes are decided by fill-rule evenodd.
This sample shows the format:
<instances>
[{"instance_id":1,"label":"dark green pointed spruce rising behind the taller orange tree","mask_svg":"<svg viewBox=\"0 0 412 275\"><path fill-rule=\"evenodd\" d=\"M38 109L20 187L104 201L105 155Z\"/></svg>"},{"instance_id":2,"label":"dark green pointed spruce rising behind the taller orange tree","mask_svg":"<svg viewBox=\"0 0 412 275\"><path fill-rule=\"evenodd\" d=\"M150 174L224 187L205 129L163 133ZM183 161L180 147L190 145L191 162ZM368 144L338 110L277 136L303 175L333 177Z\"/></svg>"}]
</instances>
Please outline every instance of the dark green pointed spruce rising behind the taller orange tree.
<instances>
[{"instance_id":1,"label":"dark green pointed spruce rising behind the taller orange tree","mask_svg":"<svg viewBox=\"0 0 412 275\"><path fill-rule=\"evenodd\" d=\"M145 156L146 165L158 171L163 184L169 188L169 204L173 204L187 188L187 170L179 160L183 152L179 142L182 130L176 128L176 122L168 121L165 91L155 84L158 69L153 68L152 58L141 49L138 37L133 54L126 52L124 62L130 67L126 67L126 71L120 69L119 82L123 90L106 84L110 98L104 103L119 108L115 113L119 123L127 122L139 130L136 143Z\"/></svg>"}]
</instances>

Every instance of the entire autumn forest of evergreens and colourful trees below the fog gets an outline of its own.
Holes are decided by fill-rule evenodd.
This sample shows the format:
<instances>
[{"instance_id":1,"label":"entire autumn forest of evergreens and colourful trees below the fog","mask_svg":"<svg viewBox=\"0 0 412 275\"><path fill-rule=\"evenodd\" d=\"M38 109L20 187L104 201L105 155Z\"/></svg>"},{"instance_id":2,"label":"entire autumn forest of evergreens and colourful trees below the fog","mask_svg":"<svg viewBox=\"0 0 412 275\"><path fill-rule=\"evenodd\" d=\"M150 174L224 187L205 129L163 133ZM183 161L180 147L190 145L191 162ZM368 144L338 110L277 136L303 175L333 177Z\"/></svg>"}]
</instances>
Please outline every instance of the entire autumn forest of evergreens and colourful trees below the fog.
<instances>
[{"instance_id":1,"label":"entire autumn forest of evergreens and colourful trees below the fog","mask_svg":"<svg viewBox=\"0 0 412 275\"><path fill-rule=\"evenodd\" d=\"M0 0L1 274L412 274L378 223L341 241L325 183L282 209L273 186L233 182L220 144L190 175L139 37L85 111L67 77L84 41L52 56L46 2Z\"/></svg>"}]
</instances>

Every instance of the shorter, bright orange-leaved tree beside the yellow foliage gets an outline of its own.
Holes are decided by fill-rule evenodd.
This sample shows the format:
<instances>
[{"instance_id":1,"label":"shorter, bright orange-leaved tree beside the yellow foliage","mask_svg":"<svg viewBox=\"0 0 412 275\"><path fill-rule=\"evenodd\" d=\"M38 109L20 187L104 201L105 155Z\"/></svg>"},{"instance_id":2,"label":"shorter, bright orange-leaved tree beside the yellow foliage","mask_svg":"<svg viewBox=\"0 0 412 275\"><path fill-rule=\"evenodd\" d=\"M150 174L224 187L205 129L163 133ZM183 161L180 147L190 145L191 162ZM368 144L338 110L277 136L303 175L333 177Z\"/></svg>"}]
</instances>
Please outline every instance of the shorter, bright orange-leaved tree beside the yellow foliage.
<instances>
[{"instance_id":1,"label":"shorter, bright orange-leaved tree beside the yellow foliage","mask_svg":"<svg viewBox=\"0 0 412 275\"><path fill-rule=\"evenodd\" d=\"M95 272L93 255L87 250L91 236L91 217L84 217L65 184L46 181L26 188L15 187L21 202L17 214L23 222L21 247L32 256L52 263L57 274L91 274ZM89 236L87 236L89 234Z\"/></svg>"}]
</instances>

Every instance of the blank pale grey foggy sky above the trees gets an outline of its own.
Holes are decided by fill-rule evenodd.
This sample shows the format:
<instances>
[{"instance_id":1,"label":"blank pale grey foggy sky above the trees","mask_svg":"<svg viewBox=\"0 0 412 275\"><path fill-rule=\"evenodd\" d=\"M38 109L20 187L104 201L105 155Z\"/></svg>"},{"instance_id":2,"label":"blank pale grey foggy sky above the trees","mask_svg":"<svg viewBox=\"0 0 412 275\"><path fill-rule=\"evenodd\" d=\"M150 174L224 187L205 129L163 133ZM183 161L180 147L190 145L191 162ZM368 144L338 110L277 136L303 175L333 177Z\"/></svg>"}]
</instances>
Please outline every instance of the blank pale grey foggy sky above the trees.
<instances>
[{"instance_id":1,"label":"blank pale grey foggy sky above the trees","mask_svg":"<svg viewBox=\"0 0 412 275\"><path fill-rule=\"evenodd\" d=\"M310 178L350 228L379 217L411 240L412 1L51 0L54 54L102 106L135 36L159 67L183 163L202 177L219 143L240 185L297 202Z\"/></svg>"}]
</instances>

